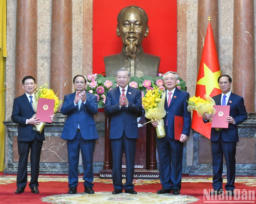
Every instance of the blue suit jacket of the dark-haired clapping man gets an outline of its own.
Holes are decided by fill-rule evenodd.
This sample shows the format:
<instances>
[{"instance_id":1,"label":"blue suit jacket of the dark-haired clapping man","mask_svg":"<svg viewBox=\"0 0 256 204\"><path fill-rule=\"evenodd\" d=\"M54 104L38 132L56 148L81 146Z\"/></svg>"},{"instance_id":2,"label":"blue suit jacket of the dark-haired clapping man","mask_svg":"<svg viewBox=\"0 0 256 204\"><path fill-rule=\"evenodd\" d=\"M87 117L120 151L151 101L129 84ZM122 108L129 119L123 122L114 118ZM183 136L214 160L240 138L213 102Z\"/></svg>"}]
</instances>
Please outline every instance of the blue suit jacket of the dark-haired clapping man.
<instances>
[{"instance_id":1,"label":"blue suit jacket of the dark-haired clapping man","mask_svg":"<svg viewBox=\"0 0 256 204\"><path fill-rule=\"evenodd\" d=\"M94 115L98 112L97 97L85 92L86 102L85 104L82 102L80 109L78 109L78 104L76 107L74 105L75 95L76 92L65 95L60 108L60 112L67 115L61 138L65 140L74 139L79 124L81 135L85 140L99 139L94 121Z\"/></svg>"}]
</instances>

